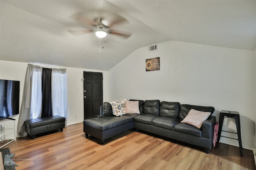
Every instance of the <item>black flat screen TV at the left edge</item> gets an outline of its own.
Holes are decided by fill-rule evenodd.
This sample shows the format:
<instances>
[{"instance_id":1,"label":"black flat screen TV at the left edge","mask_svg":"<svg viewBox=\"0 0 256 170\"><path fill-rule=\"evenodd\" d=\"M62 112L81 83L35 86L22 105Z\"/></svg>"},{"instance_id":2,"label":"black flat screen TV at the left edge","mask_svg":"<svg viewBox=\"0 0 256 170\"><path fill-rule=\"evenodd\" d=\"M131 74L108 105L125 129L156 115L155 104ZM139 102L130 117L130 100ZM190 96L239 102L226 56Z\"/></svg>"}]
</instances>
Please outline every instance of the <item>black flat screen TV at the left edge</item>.
<instances>
[{"instance_id":1,"label":"black flat screen TV at the left edge","mask_svg":"<svg viewBox=\"0 0 256 170\"><path fill-rule=\"evenodd\" d=\"M20 81L0 79L0 119L19 114L19 105Z\"/></svg>"}]
</instances>

